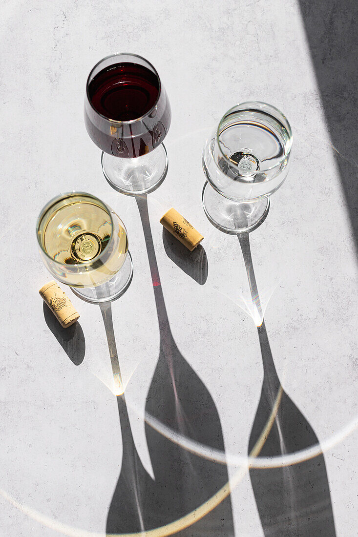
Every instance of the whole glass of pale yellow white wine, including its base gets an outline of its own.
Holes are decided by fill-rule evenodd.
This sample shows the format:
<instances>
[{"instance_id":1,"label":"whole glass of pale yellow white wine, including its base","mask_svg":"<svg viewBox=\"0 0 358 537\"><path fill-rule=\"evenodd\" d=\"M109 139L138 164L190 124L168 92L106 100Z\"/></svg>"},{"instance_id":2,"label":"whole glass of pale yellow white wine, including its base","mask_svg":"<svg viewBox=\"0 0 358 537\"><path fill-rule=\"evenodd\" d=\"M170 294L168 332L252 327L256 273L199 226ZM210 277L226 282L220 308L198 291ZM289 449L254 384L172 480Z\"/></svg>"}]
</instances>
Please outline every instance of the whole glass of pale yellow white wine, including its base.
<instances>
[{"instance_id":1,"label":"whole glass of pale yellow white wine, including its base","mask_svg":"<svg viewBox=\"0 0 358 537\"><path fill-rule=\"evenodd\" d=\"M114 300L131 282L127 231L119 216L92 194L61 194L37 221L40 255L56 279L82 299Z\"/></svg>"}]
</instances>

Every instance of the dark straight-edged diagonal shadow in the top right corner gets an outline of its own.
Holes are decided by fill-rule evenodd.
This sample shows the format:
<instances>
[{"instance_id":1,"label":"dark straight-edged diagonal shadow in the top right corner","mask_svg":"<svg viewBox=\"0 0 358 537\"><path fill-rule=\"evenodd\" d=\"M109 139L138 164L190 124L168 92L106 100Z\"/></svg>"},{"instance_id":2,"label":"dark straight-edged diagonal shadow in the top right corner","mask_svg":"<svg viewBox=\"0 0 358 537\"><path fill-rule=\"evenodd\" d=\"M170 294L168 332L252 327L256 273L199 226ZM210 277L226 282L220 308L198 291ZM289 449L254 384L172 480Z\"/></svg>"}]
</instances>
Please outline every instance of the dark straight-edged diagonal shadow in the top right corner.
<instances>
[{"instance_id":1,"label":"dark straight-edged diagonal shadow in the top right corner","mask_svg":"<svg viewBox=\"0 0 358 537\"><path fill-rule=\"evenodd\" d=\"M358 248L358 2L299 0L299 6Z\"/></svg>"}]
</instances>

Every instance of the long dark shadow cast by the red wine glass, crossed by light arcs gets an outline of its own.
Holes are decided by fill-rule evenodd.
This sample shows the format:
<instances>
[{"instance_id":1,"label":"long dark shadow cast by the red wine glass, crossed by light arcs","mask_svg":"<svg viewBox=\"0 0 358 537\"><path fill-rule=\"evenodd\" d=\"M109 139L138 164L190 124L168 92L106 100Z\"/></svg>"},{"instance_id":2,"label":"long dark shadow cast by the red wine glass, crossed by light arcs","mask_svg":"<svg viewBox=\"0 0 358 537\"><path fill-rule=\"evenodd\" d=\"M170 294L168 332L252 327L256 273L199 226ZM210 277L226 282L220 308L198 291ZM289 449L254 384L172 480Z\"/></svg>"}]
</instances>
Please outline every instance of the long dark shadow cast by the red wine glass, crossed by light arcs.
<instances>
[{"instance_id":1,"label":"long dark shadow cast by the red wine glass, crossed by light arcs","mask_svg":"<svg viewBox=\"0 0 358 537\"><path fill-rule=\"evenodd\" d=\"M144 230L160 329L160 352L147 395L146 414L175 434L224 451L220 418L209 391L176 346L171 334L153 245L147 196L136 198ZM159 527L192 513L228 482L227 467L207 460L146 424L155 481L144 505L144 527ZM199 518L199 517L198 517ZM195 521L195 514L189 524ZM185 527L185 525L187 527ZM205 516L176 528L183 537L234 535L230 495ZM160 535L160 533L159 533Z\"/></svg>"}]
</instances>

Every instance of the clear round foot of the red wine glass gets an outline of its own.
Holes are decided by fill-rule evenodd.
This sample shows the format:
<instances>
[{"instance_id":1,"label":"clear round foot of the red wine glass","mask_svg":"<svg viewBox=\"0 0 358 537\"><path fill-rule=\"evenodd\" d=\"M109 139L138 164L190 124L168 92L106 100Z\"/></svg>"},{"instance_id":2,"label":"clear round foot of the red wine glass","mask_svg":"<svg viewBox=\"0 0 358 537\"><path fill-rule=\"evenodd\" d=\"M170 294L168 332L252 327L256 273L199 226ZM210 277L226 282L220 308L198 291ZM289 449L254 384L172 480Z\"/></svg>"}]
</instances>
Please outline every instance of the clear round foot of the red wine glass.
<instances>
[{"instance_id":1,"label":"clear round foot of the red wine glass","mask_svg":"<svg viewBox=\"0 0 358 537\"><path fill-rule=\"evenodd\" d=\"M136 158L120 158L102 152L102 170L112 188L131 196L147 194L159 187L168 171L164 144Z\"/></svg>"}]
</instances>

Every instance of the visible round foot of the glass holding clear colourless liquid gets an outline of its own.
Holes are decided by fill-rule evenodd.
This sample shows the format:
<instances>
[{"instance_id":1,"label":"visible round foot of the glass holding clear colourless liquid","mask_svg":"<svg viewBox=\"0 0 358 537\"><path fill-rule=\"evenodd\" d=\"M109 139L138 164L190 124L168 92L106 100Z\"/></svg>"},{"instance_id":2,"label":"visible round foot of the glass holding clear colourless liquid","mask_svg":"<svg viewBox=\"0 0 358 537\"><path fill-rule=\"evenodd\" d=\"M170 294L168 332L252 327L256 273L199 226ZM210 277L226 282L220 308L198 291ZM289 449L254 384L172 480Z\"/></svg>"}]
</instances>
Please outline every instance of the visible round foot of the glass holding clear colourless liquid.
<instances>
[{"instance_id":1,"label":"visible round foot of the glass holding clear colourless liquid","mask_svg":"<svg viewBox=\"0 0 358 537\"><path fill-rule=\"evenodd\" d=\"M203 188L202 201L205 214L213 226L230 235L258 228L270 208L270 198L253 202L233 201L219 194L208 182Z\"/></svg>"}]
</instances>

